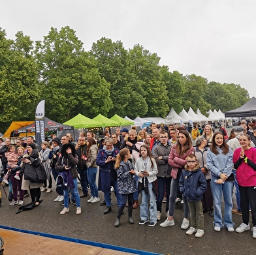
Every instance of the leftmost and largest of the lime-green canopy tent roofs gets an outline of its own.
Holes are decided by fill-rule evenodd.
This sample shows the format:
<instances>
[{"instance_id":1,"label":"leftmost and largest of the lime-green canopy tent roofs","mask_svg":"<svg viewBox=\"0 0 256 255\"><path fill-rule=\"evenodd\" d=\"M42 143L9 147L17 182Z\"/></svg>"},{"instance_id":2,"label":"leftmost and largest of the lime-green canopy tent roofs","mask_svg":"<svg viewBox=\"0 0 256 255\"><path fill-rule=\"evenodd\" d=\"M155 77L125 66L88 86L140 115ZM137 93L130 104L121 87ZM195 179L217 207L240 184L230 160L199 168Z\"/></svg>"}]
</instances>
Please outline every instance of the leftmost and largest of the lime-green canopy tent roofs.
<instances>
[{"instance_id":1,"label":"leftmost and largest of the lime-green canopy tent roofs","mask_svg":"<svg viewBox=\"0 0 256 255\"><path fill-rule=\"evenodd\" d=\"M63 124L73 126L74 128L96 128L104 126L99 121L89 119L81 113L78 113L78 115L74 116L72 119L69 119L69 121L66 121Z\"/></svg>"}]
</instances>

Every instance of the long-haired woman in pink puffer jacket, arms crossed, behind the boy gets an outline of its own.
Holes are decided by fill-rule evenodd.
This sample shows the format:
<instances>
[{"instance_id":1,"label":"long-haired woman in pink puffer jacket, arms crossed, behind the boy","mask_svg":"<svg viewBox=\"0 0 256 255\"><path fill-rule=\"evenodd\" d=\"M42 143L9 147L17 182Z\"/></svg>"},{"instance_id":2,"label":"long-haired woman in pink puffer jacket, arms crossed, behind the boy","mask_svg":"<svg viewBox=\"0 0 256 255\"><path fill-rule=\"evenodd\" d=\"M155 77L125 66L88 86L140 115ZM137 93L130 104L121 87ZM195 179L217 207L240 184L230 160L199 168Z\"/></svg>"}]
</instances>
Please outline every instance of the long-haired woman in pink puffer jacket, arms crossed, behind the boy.
<instances>
[{"instance_id":1,"label":"long-haired woman in pink puffer jacket, arms crossed, behind the boy","mask_svg":"<svg viewBox=\"0 0 256 255\"><path fill-rule=\"evenodd\" d=\"M174 226L174 209L175 209L175 200L178 193L179 188L179 180L182 171L184 170L185 164L187 164L185 158L189 154L195 154L195 148L192 145L191 138L189 136L189 132L186 130L180 130L178 134L177 142L170 149L170 154L168 157L168 164L172 166L172 172L170 175L172 176L172 181L170 183L170 198L169 198L169 211L168 217L165 222L161 223L161 227ZM184 219L182 221L182 229L189 228L189 207L187 205L187 201L184 199Z\"/></svg>"}]
</instances>

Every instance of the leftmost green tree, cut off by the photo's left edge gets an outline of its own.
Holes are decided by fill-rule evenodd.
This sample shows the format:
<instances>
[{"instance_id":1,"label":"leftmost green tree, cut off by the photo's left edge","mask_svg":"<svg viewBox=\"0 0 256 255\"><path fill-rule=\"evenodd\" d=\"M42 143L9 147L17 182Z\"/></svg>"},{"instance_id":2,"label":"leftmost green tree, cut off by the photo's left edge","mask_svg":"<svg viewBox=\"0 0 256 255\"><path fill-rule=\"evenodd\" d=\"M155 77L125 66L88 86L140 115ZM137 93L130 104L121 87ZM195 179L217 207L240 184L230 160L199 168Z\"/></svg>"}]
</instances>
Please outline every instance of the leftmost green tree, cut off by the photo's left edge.
<instances>
[{"instance_id":1,"label":"leftmost green tree, cut off by the photo's left edge","mask_svg":"<svg viewBox=\"0 0 256 255\"><path fill-rule=\"evenodd\" d=\"M33 41L22 32L15 40L0 29L0 123L6 129L11 121L35 119L40 98Z\"/></svg>"}]
</instances>

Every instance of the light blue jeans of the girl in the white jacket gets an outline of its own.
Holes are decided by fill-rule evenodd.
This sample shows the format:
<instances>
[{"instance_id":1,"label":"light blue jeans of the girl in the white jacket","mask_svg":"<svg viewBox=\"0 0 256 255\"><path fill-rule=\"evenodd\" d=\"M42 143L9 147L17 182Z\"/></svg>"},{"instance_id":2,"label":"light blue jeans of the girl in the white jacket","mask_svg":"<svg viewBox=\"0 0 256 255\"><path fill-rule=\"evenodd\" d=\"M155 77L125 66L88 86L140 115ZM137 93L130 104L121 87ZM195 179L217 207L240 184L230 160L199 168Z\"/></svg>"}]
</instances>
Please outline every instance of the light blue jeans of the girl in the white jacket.
<instances>
[{"instance_id":1,"label":"light blue jeans of the girl in the white jacket","mask_svg":"<svg viewBox=\"0 0 256 255\"><path fill-rule=\"evenodd\" d=\"M148 199L150 200L150 210L148 210ZM150 217L148 217L150 211ZM140 219L157 222L157 203L155 202L155 192L153 192L152 183L148 183L148 194L144 190L141 191Z\"/></svg>"}]
</instances>

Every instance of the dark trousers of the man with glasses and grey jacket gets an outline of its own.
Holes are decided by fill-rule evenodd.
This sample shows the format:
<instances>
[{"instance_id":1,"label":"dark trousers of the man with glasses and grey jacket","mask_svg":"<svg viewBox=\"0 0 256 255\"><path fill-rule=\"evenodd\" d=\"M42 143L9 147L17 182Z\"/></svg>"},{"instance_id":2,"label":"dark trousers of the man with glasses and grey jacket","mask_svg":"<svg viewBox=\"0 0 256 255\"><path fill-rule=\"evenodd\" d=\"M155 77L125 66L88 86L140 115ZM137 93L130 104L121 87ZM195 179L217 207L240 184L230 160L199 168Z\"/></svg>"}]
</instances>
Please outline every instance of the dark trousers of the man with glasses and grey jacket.
<instances>
[{"instance_id":1,"label":"dark trousers of the man with glasses and grey jacket","mask_svg":"<svg viewBox=\"0 0 256 255\"><path fill-rule=\"evenodd\" d=\"M170 181L172 180L171 177L159 177L157 176L157 211L162 211L162 202L163 196L165 194L165 187L167 190L167 198L170 196ZM169 209L169 203L167 203L165 212L167 213Z\"/></svg>"}]
</instances>

